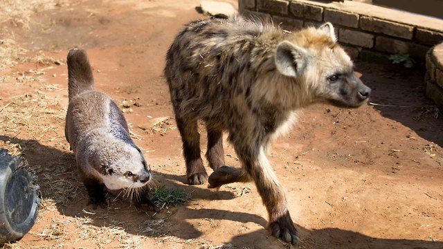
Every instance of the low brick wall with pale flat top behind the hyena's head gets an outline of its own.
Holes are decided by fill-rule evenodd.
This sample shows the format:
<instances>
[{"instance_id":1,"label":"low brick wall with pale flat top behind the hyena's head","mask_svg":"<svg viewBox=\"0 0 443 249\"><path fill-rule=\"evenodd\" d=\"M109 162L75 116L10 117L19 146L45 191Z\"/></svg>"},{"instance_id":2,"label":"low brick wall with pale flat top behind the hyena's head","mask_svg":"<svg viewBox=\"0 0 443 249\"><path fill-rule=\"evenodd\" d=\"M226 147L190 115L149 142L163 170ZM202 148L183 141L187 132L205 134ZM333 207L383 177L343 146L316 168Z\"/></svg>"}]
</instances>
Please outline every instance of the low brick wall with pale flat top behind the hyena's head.
<instances>
[{"instance_id":1,"label":"low brick wall with pale flat top behind the hyena's head","mask_svg":"<svg viewBox=\"0 0 443 249\"><path fill-rule=\"evenodd\" d=\"M329 21L353 59L388 62L391 54L408 53L424 62L429 48L443 42L443 20L355 1L239 0L239 9L287 30Z\"/></svg>"}]
</instances>

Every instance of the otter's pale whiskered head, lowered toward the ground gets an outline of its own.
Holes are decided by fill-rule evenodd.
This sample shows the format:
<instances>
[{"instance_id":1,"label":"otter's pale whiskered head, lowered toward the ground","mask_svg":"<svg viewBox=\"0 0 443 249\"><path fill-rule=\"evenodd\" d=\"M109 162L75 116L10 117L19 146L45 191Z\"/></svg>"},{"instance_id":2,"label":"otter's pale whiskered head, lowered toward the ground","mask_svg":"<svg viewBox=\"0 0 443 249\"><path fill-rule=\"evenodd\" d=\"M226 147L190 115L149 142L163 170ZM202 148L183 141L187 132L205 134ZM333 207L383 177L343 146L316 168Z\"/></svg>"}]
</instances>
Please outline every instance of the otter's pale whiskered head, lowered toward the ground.
<instances>
[{"instance_id":1,"label":"otter's pale whiskered head, lowered toward the ground","mask_svg":"<svg viewBox=\"0 0 443 249\"><path fill-rule=\"evenodd\" d=\"M143 187L152 179L150 167L136 145L116 142L93 156L93 165L109 190Z\"/></svg>"}]
</instances>

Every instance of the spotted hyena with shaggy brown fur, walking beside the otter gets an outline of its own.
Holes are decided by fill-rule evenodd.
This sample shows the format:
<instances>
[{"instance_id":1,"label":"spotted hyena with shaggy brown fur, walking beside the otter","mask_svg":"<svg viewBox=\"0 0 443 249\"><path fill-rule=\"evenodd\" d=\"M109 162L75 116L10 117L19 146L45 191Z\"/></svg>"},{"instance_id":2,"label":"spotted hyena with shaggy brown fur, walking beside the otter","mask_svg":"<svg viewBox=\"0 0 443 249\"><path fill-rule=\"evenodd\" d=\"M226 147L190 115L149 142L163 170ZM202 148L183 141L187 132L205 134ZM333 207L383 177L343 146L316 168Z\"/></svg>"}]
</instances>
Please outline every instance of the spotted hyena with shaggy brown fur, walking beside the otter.
<instances>
[{"instance_id":1,"label":"spotted hyena with shaggy brown fur, walking beside the otter","mask_svg":"<svg viewBox=\"0 0 443 249\"><path fill-rule=\"evenodd\" d=\"M302 107L316 102L359 107L370 95L336 43L332 24L288 33L242 17L194 21L174 39L166 59L188 183L209 181L209 187L219 187L254 181L273 236L297 243L283 187L266 151ZM206 158L214 170L209 178L200 156L199 119L208 132ZM225 165L223 131L228 131L240 169Z\"/></svg>"}]
</instances>

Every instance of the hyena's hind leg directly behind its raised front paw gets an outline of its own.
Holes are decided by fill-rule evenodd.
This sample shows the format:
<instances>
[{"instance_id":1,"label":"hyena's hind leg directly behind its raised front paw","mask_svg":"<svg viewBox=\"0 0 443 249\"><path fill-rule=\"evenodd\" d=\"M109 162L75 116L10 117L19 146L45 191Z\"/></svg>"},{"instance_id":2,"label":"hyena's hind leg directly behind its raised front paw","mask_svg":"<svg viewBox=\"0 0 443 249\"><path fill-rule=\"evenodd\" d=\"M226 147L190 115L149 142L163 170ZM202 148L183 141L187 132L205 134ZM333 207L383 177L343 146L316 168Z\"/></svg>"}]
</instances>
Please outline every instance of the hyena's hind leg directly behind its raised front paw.
<instances>
[{"instance_id":1,"label":"hyena's hind leg directly behind its raised front paw","mask_svg":"<svg viewBox=\"0 0 443 249\"><path fill-rule=\"evenodd\" d=\"M223 149L223 130L206 124L208 131L208 150L206 151L206 159L208 159L209 167L214 171L224 164Z\"/></svg>"}]
</instances>

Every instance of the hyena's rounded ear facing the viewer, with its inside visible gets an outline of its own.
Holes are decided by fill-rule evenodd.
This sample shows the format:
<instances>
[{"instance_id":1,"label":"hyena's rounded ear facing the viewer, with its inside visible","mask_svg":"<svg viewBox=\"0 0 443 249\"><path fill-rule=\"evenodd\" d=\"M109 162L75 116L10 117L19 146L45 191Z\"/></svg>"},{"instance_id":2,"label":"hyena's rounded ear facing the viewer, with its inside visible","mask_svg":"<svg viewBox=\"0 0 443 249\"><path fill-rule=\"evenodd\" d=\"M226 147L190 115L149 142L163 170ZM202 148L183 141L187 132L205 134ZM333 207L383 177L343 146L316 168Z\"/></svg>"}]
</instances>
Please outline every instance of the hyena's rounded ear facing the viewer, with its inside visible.
<instances>
[{"instance_id":1,"label":"hyena's rounded ear facing the viewer, with its inside visible","mask_svg":"<svg viewBox=\"0 0 443 249\"><path fill-rule=\"evenodd\" d=\"M291 42L280 42L275 50L275 66L282 74L296 77L302 73L307 64L307 50L292 44Z\"/></svg>"}]
</instances>

